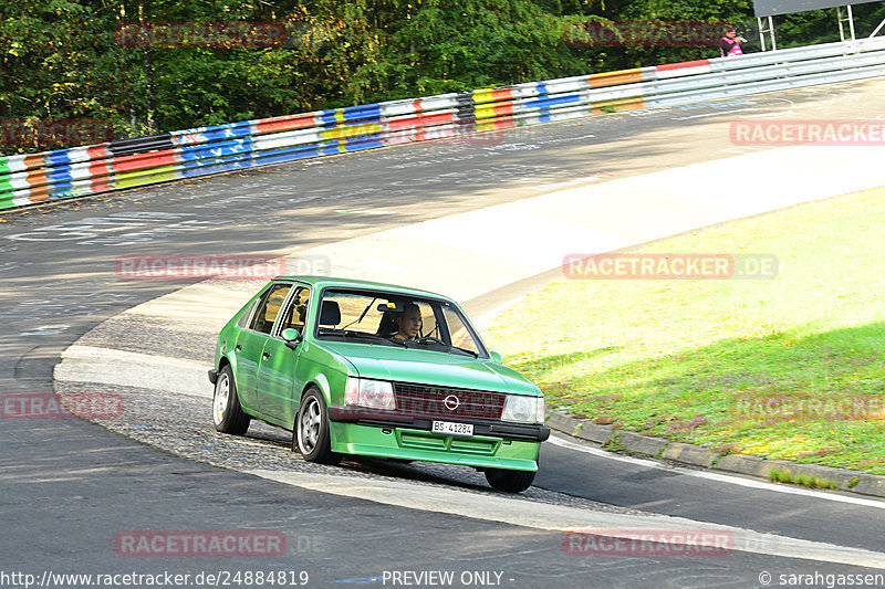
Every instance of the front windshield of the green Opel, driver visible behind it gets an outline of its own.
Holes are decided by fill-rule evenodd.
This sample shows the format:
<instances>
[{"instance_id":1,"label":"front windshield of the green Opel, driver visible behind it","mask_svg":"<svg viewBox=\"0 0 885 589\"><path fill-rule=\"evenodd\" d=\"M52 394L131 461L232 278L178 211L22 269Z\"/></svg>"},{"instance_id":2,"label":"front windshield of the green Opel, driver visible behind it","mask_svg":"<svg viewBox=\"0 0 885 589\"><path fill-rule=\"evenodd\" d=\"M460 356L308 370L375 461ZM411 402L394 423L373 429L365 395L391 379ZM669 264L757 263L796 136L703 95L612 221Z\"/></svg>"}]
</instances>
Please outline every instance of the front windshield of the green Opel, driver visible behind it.
<instances>
[{"instance_id":1,"label":"front windshield of the green Opel, driver visible behind it","mask_svg":"<svg viewBox=\"0 0 885 589\"><path fill-rule=\"evenodd\" d=\"M486 356L458 307L448 301L375 291L326 290L316 337Z\"/></svg>"}]
</instances>

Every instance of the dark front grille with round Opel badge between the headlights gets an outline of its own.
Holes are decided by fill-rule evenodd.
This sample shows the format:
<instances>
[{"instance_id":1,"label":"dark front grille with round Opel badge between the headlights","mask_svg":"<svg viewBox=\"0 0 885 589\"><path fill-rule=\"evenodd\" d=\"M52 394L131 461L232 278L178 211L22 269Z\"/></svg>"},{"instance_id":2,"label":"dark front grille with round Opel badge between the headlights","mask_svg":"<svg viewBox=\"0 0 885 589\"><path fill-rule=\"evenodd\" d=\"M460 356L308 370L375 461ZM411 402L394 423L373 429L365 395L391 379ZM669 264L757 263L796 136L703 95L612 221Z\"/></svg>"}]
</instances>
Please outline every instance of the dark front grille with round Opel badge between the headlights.
<instances>
[{"instance_id":1,"label":"dark front grille with round Opel badge between the headlights","mask_svg":"<svg viewBox=\"0 0 885 589\"><path fill-rule=\"evenodd\" d=\"M501 392L394 382L394 395L396 412L408 417L499 420L504 408Z\"/></svg>"}]
</instances>

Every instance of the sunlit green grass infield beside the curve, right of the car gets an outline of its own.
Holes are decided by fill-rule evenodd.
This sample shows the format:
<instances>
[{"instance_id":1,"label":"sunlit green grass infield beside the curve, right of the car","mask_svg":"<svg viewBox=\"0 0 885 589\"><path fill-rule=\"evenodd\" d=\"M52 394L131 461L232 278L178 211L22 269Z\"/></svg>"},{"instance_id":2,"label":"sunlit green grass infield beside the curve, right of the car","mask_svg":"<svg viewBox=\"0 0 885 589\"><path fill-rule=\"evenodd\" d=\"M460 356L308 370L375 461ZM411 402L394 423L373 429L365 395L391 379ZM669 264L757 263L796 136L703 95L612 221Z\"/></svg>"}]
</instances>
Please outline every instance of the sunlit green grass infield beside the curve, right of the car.
<instances>
[{"instance_id":1,"label":"sunlit green grass infield beside the curve, right of the car","mask_svg":"<svg viewBox=\"0 0 885 589\"><path fill-rule=\"evenodd\" d=\"M629 251L774 254L779 273L562 278L530 294L488 339L552 408L720 452L885 474L885 188Z\"/></svg>"}]
</instances>

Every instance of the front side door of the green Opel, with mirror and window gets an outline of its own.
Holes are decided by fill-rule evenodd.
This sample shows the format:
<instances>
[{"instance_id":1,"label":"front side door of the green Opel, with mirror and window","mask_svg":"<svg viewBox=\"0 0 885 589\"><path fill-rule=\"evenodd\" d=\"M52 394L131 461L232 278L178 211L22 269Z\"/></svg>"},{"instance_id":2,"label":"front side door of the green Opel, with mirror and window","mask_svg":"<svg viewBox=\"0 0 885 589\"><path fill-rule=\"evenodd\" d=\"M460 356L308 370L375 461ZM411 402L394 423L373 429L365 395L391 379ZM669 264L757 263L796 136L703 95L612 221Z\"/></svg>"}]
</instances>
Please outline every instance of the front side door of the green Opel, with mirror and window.
<instances>
[{"instance_id":1,"label":"front side door of the green Opel, with mirror and window","mask_svg":"<svg viewBox=\"0 0 885 589\"><path fill-rule=\"evenodd\" d=\"M296 368L304 346L290 348L281 334L287 328L304 333L310 296L311 290L308 286L295 285L285 312L280 315L280 320L274 327L273 337L264 343L258 370L261 411L270 421L284 428L291 428L295 422L296 400L300 397L298 393L303 388L303 382L298 380Z\"/></svg>"}]
</instances>

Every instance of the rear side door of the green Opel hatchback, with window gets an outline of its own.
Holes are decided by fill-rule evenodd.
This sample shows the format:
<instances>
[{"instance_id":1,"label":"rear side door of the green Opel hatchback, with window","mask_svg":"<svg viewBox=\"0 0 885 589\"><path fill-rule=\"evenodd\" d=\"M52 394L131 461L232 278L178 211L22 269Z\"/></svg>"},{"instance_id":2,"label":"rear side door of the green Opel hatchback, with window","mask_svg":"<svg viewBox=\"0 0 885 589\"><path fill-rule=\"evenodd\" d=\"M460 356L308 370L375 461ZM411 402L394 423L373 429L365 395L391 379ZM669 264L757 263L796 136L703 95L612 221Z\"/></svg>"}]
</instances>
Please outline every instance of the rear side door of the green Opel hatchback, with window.
<instances>
[{"instance_id":1,"label":"rear side door of the green Opel hatchback, with window","mask_svg":"<svg viewBox=\"0 0 885 589\"><path fill-rule=\"evenodd\" d=\"M277 315L291 288L291 283L271 285L259 301L248 327L237 336L237 393L240 402L252 411L263 413L263 403L258 395L259 365L264 345L271 339Z\"/></svg>"}]
</instances>

